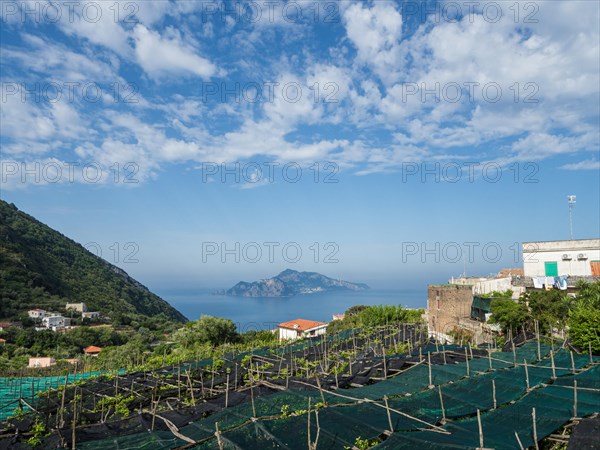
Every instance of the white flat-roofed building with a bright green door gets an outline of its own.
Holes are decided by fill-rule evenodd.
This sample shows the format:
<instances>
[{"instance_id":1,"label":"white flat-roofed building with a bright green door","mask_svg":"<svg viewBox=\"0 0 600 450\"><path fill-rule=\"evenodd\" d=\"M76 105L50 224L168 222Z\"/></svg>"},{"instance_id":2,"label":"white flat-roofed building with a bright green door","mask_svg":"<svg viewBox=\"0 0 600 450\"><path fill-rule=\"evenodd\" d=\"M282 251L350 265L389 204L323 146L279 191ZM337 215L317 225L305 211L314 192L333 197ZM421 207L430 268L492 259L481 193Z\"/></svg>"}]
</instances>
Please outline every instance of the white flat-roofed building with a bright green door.
<instances>
[{"instance_id":1,"label":"white flat-roofed building with a bright green door","mask_svg":"<svg viewBox=\"0 0 600 450\"><path fill-rule=\"evenodd\" d=\"M600 277L600 239L523 242L526 277Z\"/></svg>"}]
</instances>

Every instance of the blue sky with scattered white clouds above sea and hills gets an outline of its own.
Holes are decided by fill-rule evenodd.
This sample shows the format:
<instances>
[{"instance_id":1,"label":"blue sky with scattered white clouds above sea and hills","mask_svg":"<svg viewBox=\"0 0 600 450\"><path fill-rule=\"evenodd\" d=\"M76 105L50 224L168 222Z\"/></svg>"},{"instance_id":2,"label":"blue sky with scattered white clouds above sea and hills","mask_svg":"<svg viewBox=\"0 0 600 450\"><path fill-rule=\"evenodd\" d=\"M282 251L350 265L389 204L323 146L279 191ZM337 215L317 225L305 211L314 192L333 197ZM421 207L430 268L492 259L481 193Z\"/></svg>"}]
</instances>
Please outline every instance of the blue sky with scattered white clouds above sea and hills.
<instances>
[{"instance_id":1,"label":"blue sky with scattered white clouds above sea and hills","mask_svg":"<svg viewBox=\"0 0 600 450\"><path fill-rule=\"evenodd\" d=\"M598 2L0 5L0 197L151 290L600 235Z\"/></svg>"}]
</instances>

